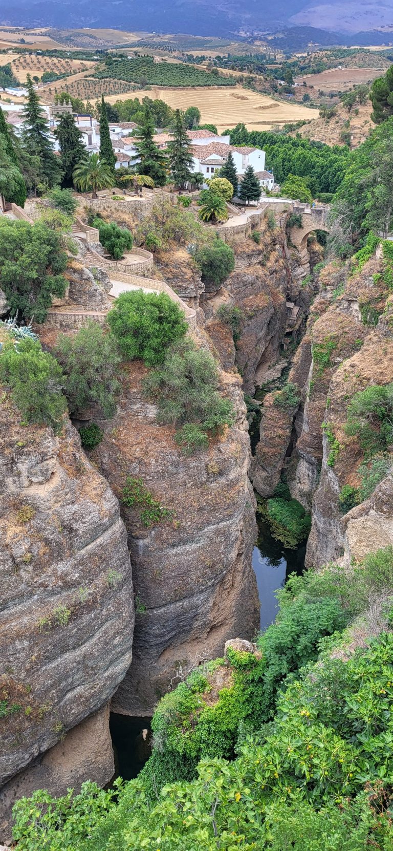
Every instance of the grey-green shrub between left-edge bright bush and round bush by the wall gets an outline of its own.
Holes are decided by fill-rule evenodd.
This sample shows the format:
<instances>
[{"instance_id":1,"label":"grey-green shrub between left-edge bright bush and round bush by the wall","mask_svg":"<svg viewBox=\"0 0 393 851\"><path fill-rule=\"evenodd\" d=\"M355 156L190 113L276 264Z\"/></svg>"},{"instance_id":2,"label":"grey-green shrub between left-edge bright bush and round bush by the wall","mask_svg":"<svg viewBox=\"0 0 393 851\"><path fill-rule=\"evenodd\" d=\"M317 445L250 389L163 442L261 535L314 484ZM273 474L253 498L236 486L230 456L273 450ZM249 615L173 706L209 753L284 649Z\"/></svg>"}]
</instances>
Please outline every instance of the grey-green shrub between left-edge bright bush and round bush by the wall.
<instances>
[{"instance_id":1,"label":"grey-green shrub between left-edge bright bush and round bush by the wall","mask_svg":"<svg viewBox=\"0 0 393 851\"><path fill-rule=\"evenodd\" d=\"M112 417L121 388L118 368L122 359L114 336L91 321L75 336L60 334L54 354L65 374L71 414L97 404L105 417Z\"/></svg>"}]
</instances>

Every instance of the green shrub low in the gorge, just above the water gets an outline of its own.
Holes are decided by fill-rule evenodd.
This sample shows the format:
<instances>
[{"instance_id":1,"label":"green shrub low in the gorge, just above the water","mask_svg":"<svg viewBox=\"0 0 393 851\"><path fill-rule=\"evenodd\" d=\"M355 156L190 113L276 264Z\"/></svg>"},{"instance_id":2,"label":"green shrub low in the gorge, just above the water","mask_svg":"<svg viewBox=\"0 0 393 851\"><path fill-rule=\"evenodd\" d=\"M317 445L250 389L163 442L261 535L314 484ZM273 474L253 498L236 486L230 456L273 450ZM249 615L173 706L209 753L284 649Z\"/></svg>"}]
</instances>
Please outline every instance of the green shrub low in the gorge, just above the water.
<instances>
[{"instance_id":1,"label":"green shrub low in the gorge, just above the water","mask_svg":"<svg viewBox=\"0 0 393 851\"><path fill-rule=\"evenodd\" d=\"M298 500L282 500L273 497L267 500L267 519L271 534L289 549L296 547L310 534L311 517Z\"/></svg>"}]
</instances>

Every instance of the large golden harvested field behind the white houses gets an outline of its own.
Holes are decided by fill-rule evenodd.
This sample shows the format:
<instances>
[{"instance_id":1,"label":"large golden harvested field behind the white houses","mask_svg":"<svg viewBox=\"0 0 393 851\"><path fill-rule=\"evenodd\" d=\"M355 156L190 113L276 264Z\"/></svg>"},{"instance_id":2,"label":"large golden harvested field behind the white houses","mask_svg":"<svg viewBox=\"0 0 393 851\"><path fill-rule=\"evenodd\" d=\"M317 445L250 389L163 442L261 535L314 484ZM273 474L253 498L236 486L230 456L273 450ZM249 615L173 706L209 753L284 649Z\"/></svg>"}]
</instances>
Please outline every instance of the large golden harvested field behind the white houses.
<instances>
[{"instance_id":1,"label":"large golden harvested field behind the white houses","mask_svg":"<svg viewBox=\"0 0 393 851\"><path fill-rule=\"evenodd\" d=\"M164 100L173 109L185 110L188 106L197 106L201 111L201 123L213 123L219 133L237 123L245 123L248 130L269 130L296 121L310 121L316 117L316 111L307 106L283 103L272 100L265 94L258 94L240 87L231 89L161 89L152 87L135 93L142 100L149 97ZM126 100L123 95L121 100ZM112 95L106 98L110 103L120 100Z\"/></svg>"}]
</instances>

